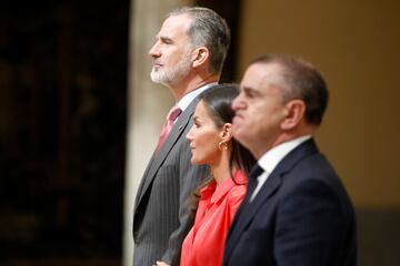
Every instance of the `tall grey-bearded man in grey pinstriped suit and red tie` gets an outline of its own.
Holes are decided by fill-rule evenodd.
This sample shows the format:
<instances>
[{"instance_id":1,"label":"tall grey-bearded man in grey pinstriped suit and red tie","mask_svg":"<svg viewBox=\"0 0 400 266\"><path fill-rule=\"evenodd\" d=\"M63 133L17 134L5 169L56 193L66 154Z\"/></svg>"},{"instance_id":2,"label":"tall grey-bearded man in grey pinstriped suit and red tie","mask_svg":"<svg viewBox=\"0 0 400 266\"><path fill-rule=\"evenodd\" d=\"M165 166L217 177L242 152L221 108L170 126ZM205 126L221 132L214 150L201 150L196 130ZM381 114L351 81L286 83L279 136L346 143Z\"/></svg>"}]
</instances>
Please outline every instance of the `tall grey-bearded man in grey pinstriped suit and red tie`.
<instances>
[{"instance_id":1,"label":"tall grey-bearded man in grey pinstriped suit and red tie","mask_svg":"<svg viewBox=\"0 0 400 266\"><path fill-rule=\"evenodd\" d=\"M218 83L229 48L226 21L206 8L180 8L167 17L149 54L151 80L170 89L176 105L167 115L133 209L133 265L157 260L179 265L182 241L192 226L187 196L209 175L190 164L184 136L198 95Z\"/></svg>"}]
</instances>

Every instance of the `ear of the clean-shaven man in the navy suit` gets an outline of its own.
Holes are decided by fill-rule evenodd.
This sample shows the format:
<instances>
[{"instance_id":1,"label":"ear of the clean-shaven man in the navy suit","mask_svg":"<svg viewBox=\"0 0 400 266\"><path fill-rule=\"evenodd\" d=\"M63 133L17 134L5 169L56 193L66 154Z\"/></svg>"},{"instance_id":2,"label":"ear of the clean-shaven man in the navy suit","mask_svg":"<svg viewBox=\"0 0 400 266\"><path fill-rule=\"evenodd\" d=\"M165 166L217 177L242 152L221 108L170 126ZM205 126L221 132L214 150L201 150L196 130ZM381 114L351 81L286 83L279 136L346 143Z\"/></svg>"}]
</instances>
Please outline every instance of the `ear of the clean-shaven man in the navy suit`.
<instances>
[{"instance_id":1,"label":"ear of the clean-shaven man in the navy suit","mask_svg":"<svg viewBox=\"0 0 400 266\"><path fill-rule=\"evenodd\" d=\"M282 130L294 129L303 119L306 104L302 100L292 100L286 104L284 119L281 122Z\"/></svg>"}]
</instances>

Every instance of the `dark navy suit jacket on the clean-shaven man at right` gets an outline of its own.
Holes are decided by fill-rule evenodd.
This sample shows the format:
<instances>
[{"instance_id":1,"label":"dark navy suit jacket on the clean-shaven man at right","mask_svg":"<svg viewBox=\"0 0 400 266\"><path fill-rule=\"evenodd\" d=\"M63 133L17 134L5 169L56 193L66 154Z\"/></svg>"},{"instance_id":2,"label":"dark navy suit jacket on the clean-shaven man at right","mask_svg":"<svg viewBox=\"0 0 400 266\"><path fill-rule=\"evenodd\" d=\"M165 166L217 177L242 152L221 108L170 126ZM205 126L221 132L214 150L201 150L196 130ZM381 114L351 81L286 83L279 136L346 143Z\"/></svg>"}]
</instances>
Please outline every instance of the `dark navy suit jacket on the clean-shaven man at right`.
<instances>
[{"instance_id":1,"label":"dark navy suit jacket on the clean-shaven man at right","mask_svg":"<svg viewBox=\"0 0 400 266\"><path fill-rule=\"evenodd\" d=\"M353 266L356 222L338 175L313 140L291 151L230 228L223 265Z\"/></svg>"}]
</instances>

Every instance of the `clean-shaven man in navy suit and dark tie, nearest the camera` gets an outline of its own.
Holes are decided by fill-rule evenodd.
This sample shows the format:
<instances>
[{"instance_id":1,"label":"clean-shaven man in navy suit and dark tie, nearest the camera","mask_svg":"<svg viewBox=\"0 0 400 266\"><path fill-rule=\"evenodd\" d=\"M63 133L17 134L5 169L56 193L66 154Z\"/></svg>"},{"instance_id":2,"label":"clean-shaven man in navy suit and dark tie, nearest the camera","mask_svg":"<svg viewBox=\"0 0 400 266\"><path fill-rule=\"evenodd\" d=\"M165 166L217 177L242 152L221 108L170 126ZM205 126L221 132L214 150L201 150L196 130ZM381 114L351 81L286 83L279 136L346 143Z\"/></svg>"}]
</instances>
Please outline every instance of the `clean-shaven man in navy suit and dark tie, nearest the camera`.
<instances>
[{"instance_id":1,"label":"clean-shaven man in navy suit and dark tie, nearest the camera","mask_svg":"<svg viewBox=\"0 0 400 266\"><path fill-rule=\"evenodd\" d=\"M328 104L322 76L299 59L267 55L240 86L232 133L258 164L223 265L354 266L353 207L313 140Z\"/></svg>"}]
</instances>

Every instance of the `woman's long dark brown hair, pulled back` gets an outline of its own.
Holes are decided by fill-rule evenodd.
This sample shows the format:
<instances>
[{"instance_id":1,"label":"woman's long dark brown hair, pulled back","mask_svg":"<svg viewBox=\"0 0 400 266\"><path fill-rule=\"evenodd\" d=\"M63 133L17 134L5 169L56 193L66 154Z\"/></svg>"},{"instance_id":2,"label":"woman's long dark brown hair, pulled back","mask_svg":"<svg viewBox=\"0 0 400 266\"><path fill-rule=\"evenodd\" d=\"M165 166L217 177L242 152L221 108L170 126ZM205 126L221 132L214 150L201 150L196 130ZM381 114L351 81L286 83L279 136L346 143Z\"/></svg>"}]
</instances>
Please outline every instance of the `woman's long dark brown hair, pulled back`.
<instances>
[{"instance_id":1,"label":"woman's long dark brown hair, pulled back","mask_svg":"<svg viewBox=\"0 0 400 266\"><path fill-rule=\"evenodd\" d=\"M237 84L219 84L207 91L199 96L199 103L202 102L206 106L208 114L211 116L216 126L223 126L226 123L232 123L234 111L231 108L233 99L239 94L239 86ZM239 168L246 176L249 175L251 167L254 165L256 158L253 155L242 146L237 140L231 139L231 156L229 158L229 167L231 171L231 177L234 183L232 171ZM194 216L200 190L212 181L212 177L208 178L204 184L200 185L193 195L189 198L189 211Z\"/></svg>"}]
</instances>

